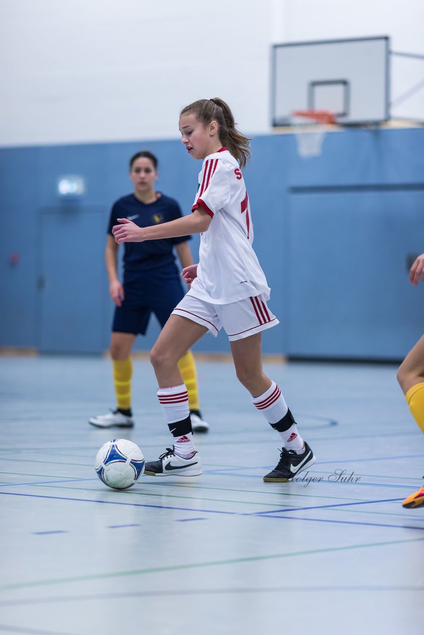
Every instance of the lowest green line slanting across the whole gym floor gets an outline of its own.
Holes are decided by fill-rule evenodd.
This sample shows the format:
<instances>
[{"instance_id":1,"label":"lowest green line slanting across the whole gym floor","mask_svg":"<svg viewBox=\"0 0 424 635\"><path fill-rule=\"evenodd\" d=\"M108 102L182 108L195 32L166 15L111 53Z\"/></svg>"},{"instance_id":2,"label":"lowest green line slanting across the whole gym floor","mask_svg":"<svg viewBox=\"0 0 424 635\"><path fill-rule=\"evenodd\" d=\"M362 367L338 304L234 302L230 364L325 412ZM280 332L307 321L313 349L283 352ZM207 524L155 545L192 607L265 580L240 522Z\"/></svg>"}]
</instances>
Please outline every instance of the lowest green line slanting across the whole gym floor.
<instances>
[{"instance_id":1,"label":"lowest green line slanting across the whole gym floor","mask_svg":"<svg viewBox=\"0 0 424 635\"><path fill-rule=\"evenodd\" d=\"M409 542L420 542L424 538L410 538L408 540L390 540L388 542L369 542L359 545L345 545L345 547L325 547L324 549L310 549L308 551L285 552L282 554L270 554L268 556L249 556L247 558L231 558L228 560L215 560L209 562L192 563L189 565L170 565L155 566L146 569L133 569L129 571L113 572L113 573L95 573L91 575L78 575L69 578L51 578L50 580L34 580L33 582L15 582L14 584L5 584L0 586L0 591L10 591L11 589L28 589L29 587L41 587L53 584L69 584L72 582L88 582L90 580L104 580L106 578L127 577L130 575L146 575L148 573L165 573L168 571L182 571L186 569L201 569L208 566L225 566L239 565L247 562L257 562L264 560L273 560L278 558L294 558L297 556L313 556L315 554L324 554L339 551L348 551L349 549L364 549L366 547L385 547L387 545L399 545Z\"/></svg>"}]
</instances>

